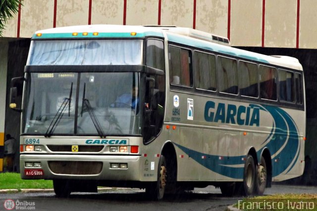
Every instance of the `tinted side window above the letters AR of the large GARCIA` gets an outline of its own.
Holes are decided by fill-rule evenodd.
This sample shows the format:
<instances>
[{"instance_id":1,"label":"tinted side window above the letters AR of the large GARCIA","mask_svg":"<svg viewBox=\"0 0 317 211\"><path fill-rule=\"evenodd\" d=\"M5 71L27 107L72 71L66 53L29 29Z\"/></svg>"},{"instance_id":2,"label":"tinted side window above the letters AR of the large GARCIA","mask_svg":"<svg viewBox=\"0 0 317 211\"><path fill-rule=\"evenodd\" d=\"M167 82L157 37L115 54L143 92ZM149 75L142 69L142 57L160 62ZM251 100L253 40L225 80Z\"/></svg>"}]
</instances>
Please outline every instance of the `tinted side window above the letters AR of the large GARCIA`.
<instances>
[{"instance_id":1,"label":"tinted side window above the letters AR of the large GARCIA","mask_svg":"<svg viewBox=\"0 0 317 211\"><path fill-rule=\"evenodd\" d=\"M238 94L237 60L218 56L219 92Z\"/></svg>"}]
</instances>

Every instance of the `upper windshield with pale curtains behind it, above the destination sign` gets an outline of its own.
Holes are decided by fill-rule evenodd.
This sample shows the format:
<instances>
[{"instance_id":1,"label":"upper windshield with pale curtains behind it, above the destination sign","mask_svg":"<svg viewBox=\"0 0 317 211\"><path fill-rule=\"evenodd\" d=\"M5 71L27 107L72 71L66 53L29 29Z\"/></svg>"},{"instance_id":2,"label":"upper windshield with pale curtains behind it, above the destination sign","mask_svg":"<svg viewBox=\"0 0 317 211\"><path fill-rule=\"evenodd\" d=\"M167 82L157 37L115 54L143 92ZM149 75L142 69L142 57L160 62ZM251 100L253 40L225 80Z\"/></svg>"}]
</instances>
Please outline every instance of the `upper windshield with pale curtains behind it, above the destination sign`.
<instances>
[{"instance_id":1,"label":"upper windshield with pale curtains behind it, above the destination sign","mask_svg":"<svg viewBox=\"0 0 317 211\"><path fill-rule=\"evenodd\" d=\"M29 65L138 65L143 40L32 41Z\"/></svg>"}]
</instances>

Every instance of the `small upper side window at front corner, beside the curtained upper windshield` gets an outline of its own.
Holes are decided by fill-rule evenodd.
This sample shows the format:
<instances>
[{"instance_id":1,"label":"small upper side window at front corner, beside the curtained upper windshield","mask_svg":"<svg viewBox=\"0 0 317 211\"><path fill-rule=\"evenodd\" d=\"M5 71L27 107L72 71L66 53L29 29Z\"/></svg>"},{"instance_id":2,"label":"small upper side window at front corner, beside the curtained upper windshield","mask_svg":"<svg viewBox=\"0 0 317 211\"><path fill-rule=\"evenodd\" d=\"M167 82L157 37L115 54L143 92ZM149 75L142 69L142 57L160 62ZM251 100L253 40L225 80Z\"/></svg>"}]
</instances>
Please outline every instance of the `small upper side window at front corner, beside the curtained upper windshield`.
<instances>
[{"instance_id":1,"label":"small upper side window at front corner, beside the curtained upper windshield","mask_svg":"<svg viewBox=\"0 0 317 211\"><path fill-rule=\"evenodd\" d=\"M146 65L165 70L163 41L149 39L147 42Z\"/></svg>"}]
</instances>

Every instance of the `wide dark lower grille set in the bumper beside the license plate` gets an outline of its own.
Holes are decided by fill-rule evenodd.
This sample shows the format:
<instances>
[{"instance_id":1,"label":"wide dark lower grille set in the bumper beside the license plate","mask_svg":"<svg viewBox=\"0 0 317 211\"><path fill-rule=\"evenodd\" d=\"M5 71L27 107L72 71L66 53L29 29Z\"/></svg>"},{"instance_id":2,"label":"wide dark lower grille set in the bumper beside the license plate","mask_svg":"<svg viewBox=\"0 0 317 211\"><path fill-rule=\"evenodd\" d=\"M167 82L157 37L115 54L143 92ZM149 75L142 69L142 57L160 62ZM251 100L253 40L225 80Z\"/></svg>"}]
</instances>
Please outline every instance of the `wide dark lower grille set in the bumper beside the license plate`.
<instances>
[{"instance_id":1,"label":"wide dark lower grille set in the bumper beside the license plate","mask_svg":"<svg viewBox=\"0 0 317 211\"><path fill-rule=\"evenodd\" d=\"M96 161L49 161L49 167L55 174L92 175L101 172L103 163Z\"/></svg>"}]
</instances>

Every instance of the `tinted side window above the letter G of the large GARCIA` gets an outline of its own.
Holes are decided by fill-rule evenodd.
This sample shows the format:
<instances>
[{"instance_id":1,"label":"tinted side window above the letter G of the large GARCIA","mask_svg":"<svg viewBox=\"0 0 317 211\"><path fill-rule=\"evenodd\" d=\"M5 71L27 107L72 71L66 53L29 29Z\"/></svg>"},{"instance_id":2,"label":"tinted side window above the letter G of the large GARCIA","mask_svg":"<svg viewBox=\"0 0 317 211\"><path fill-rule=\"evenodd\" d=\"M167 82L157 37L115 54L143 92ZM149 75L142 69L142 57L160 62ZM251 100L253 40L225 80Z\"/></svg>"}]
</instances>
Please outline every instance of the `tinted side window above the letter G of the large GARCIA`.
<instances>
[{"instance_id":1,"label":"tinted side window above the letter G of the large GARCIA","mask_svg":"<svg viewBox=\"0 0 317 211\"><path fill-rule=\"evenodd\" d=\"M216 91L216 61L214 55L195 52L194 61L196 88Z\"/></svg>"}]
</instances>

